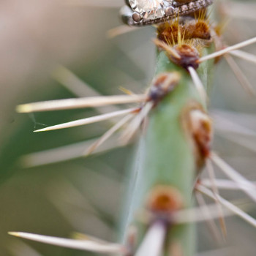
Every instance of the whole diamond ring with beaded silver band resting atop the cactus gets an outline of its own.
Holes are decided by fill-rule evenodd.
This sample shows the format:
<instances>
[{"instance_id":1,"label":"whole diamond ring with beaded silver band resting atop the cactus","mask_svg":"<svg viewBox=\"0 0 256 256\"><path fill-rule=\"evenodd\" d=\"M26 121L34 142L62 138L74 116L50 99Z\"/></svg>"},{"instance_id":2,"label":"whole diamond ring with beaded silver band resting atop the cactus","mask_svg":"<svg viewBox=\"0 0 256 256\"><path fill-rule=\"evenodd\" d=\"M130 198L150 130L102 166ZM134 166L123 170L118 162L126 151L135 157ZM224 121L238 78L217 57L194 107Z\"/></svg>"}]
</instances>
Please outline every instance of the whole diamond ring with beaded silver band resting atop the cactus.
<instances>
[{"instance_id":1,"label":"whole diamond ring with beaded silver band resting atop the cactus","mask_svg":"<svg viewBox=\"0 0 256 256\"><path fill-rule=\"evenodd\" d=\"M125 0L121 18L129 26L146 26L165 22L178 15L188 15L208 7L213 0Z\"/></svg>"}]
</instances>

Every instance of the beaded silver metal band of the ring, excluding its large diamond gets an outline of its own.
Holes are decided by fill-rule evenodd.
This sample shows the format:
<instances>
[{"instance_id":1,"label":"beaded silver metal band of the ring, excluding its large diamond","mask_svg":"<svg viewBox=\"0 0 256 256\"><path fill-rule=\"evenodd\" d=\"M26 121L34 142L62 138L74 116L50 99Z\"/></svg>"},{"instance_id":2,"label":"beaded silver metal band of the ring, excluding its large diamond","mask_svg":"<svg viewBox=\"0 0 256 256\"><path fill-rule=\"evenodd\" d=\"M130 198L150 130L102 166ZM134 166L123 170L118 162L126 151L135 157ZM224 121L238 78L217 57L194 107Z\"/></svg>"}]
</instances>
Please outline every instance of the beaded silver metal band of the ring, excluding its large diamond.
<instances>
[{"instance_id":1,"label":"beaded silver metal band of the ring, excluding its large diamond","mask_svg":"<svg viewBox=\"0 0 256 256\"><path fill-rule=\"evenodd\" d=\"M192 12L208 7L213 3L213 0L196 0L185 4L177 4L175 1L172 1L170 5L164 7L162 10L163 15L161 17L150 19L143 18L139 12L132 10L129 0L125 1L127 5L121 8L120 15L123 22L129 26L147 26L163 23L167 20L176 18L177 16L189 15Z\"/></svg>"}]
</instances>

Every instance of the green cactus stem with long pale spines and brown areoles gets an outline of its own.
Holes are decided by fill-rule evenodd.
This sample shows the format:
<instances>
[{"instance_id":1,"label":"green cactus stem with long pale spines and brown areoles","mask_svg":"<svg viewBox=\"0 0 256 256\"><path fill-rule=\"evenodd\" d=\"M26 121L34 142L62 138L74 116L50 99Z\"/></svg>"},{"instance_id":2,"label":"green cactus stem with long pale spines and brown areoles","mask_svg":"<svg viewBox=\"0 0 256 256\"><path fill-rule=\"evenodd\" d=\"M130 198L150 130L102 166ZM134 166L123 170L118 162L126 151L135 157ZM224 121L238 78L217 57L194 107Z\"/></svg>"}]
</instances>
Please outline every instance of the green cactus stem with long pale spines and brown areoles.
<instances>
[{"instance_id":1,"label":"green cactus stem with long pale spines and brown areoles","mask_svg":"<svg viewBox=\"0 0 256 256\"><path fill-rule=\"evenodd\" d=\"M206 11L195 13L195 18L177 17L157 26L157 39L154 40L157 45L156 72L145 94L19 105L18 112L31 113L122 103L140 104L135 108L37 130L63 129L124 116L85 152L86 155L92 154L121 127L124 127L124 132L120 145L127 145L135 138L137 150L121 223L121 244L110 244L97 238L81 241L30 233L10 234L106 254L192 256L195 255L197 221L219 218L224 236L225 215L237 214L255 225L252 217L218 195L217 184L211 173L212 163L221 167L252 200L255 200L255 187L211 151L213 129L208 115L208 95L214 61L217 63L221 56L228 54L225 58L237 74L238 69L230 54L241 53L236 50L256 42L256 39L226 47L218 29L210 25ZM244 84L243 80L241 82ZM248 83L245 83L245 89L250 94L254 92ZM139 133L139 138L135 133ZM200 173L205 165L212 178L211 190L200 181ZM244 189L240 182L252 189ZM213 198L217 203L213 211L217 214L208 217L198 214L195 217L199 209L192 199L194 192L202 192Z\"/></svg>"}]
</instances>

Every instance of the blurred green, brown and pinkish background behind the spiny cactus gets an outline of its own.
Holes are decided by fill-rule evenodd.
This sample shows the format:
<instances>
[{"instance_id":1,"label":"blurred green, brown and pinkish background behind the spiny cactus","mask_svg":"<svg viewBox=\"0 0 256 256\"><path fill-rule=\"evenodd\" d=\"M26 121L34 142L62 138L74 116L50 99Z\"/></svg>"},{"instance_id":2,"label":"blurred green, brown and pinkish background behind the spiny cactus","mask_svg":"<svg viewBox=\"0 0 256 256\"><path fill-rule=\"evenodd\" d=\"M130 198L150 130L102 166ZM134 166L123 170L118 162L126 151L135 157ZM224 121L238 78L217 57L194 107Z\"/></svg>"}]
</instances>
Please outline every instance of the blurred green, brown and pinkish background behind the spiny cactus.
<instances>
[{"instance_id":1,"label":"blurred green, brown and pinkish background behind the spiny cactus","mask_svg":"<svg viewBox=\"0 0 256 256\"><path fill-rule=\"evenodd\" d=\"M144 91L154 74L154 28L110 37L116 33L112 29L121 26L118 9L122 4L121 0L0 3L0 255L89 255L22 241L8 236L10 230L63 237L80 232L117 239L133 146L113 148L110 141L106 148L112 149L80 157L88 146L86 140L97 138L110 122L33 131L92 116L96 110L27 115L15 113L15 106L84 97L88 86L104 95L122 94L120 87ZM245 10L240 6L227 10L236 16L224 20L224 39L230 45L255 37L256 5L249 4ZM224 9L222 15L227 17ZM245 50L256 54L256 46ZM256 89L256 65L236 62ZM252 181L256 180L255 109L256 100L244 93L221 61L211 92L211 113L217 121L214 149ZM217 176L223 177L218 170ZM222 195L229 200L246 198L241 192ZM253 207L249 214L256 217ZM198 252L255 255L255 228L232 217L227 219L227 233L227 243L217 244L206 225L199 225Z\"/></svg>"}]
</instances>

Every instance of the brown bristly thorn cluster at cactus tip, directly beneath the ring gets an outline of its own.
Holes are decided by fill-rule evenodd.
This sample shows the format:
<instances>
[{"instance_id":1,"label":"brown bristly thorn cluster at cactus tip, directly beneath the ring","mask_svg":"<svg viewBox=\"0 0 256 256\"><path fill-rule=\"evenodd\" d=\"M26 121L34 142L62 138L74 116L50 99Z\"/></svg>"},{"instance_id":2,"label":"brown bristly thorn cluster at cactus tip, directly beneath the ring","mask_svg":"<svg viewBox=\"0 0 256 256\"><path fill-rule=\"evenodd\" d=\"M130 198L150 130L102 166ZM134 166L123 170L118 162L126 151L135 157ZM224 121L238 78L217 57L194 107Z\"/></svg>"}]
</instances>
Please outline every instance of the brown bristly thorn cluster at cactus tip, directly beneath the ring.
<instances>
[{"instance_id":1,"label":"brown bristly thorn cluster at cactus tip, directly beneath the ring","mask_svg":"<svg viewBox=\"0 0 256 256\"><path fill-rule=\"evenodd\" d=\"M194 15L194 18L186 16L160 24L154 40L158 48L167 52L170 61L184 69L197 69L200 50L211 42L212 28L206 10Z\"/></svg>"}]
</instances>

